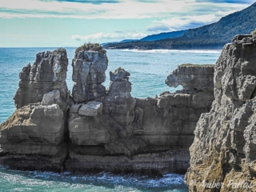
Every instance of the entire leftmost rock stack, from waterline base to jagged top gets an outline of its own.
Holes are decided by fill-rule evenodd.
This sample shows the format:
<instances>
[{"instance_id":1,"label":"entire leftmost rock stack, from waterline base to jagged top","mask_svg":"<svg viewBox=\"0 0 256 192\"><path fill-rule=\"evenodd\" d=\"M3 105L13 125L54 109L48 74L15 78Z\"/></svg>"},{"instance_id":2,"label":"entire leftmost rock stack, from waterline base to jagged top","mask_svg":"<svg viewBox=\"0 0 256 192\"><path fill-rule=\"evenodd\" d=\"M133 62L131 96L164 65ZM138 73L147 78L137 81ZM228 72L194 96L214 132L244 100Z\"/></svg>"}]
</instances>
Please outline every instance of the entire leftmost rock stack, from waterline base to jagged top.
<instances>
[{"instance_id":1,"label":"entire leftmost rock stack, from waterline base to jagged top","mask_svg":"<svg viewBox=\"0 0 256 192\"><path fill-rule=\"evenodd\" d=\"M5 166L63 170L67 61L65 49L42 52L19 74L14 97L18 110L0 126L0 161Z\"/></svg>"}]
</instances>

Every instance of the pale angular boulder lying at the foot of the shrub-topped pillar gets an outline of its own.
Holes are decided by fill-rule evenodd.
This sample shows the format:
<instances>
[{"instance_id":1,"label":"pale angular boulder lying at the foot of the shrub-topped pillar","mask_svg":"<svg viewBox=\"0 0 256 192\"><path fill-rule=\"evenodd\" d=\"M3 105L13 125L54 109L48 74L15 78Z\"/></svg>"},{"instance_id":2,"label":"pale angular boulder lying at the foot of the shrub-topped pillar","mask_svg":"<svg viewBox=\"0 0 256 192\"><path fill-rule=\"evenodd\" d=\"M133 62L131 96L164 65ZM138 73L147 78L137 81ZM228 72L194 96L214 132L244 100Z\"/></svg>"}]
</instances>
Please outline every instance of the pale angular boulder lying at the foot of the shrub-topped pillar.
<instances>
[{"instance_id":1,"label":"pale angular boulder lying at the foot of the shrub-topped pillar","mask_svg":"<svg viewBox=\"0 0 256 192\"><path fill-rule=\"evenodd\" d=\"M78 114L88 116L88 117L96 117L102 114L103 103L102 102L87 102L83 104L79 110Z\"/></svg>"}]
</instances>

